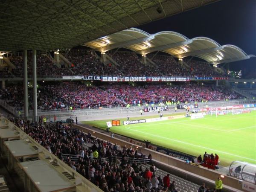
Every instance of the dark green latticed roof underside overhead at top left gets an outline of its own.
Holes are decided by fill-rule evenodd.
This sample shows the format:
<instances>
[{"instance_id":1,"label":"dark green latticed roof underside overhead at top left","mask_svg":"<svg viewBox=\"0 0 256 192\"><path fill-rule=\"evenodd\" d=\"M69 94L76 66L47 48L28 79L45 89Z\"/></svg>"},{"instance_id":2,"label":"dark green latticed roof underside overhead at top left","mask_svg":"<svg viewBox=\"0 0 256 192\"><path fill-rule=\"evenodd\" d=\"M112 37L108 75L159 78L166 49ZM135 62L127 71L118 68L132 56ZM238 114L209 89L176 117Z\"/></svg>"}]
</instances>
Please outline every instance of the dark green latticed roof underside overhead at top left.
<instances>
[{"instance_id":1,"label":"dark green latticed roof underside overhead at top left","mask_svg":"<svg viewBox=\"0 0 256 192\"><path fill-rule=\"evenodd\" d=\"M71 48L215 1L1 0L0 51Z\"/></svg>"}]
</instances>

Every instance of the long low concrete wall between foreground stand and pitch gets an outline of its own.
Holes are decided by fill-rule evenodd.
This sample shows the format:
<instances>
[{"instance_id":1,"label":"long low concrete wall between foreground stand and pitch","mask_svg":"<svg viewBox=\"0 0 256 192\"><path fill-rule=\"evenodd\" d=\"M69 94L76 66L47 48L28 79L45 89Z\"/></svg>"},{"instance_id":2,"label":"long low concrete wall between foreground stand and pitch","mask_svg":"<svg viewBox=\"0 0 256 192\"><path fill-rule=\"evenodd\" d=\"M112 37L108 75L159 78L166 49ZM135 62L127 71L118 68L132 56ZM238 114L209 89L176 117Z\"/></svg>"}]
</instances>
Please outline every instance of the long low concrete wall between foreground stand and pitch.
<instances>
[{"instance_id":1,"label":"long low concrete wall between foreground stand and pitch","mask_svg":"<svg viewBox=\"0 0 256 192\"><path fill-rule=\"evenodd\" d=\"M99 131L92 131L90 128L85 128L80 125L73 125L76 128L79 128L79 130L84 131L87 133L88 131L91 132L91 134L95 137L98 137L102 140L108 140L111 143L116 143L117 145L127 147L132 146L133 148L137 148L139 152L142 152L146 155L149 153L152 155L155 163L158 165L158 167L165 169L166 171L169 171L177 176L183 177L184 179L188 179L191 181L194 181L195 183L201 184L202 182L209 183L209 185L214 186L214 181L217 179L217 177L220 177L220 173L217 171L206 169L204 167L199 167L191 164L185 163L183 160L179 160L175 157L171 157L169 155L153 151L148 148L143 148L139 145L134 145L132 143L126 142L124 140L120 140L115 137L111 137L107 133L101 133ZM224 183L224 189L225 191L229 192L238 192L242 189L242 183L238 179L234 177L230 177L225 175L224 178L221 178L222 182Z\"/></svg>"}]
</instances>

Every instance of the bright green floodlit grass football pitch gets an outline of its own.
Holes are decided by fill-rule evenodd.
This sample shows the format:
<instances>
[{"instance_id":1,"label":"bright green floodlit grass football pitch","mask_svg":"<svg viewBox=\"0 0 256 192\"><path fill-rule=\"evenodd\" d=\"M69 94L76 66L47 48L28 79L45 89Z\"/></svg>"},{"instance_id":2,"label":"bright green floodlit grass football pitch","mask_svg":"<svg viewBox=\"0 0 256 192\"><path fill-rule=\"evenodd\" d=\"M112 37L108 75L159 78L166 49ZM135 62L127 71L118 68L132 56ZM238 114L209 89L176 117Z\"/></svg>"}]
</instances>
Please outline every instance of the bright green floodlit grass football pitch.
<instances>
[{"instance_id":1,"label":"bright green floodlit grass football pitch","mask_svg":"<svg viewBox=\"0 0 256 192\"><path fill-rule=\"evenodd\" d=\"M156 116L146 118L152 117ZM130 120L143 118L138 116ZM106 122L111 120L82 123L105 129ZM120 119L120 122L124 120ZM112 127L111 131L195 156L203 155L204 151L217 153L221 165L225 166L234 160L256 164L256 111L218 117L207 115L202 119L182 118L121 125Z\"/></svg>"}]
</instances>

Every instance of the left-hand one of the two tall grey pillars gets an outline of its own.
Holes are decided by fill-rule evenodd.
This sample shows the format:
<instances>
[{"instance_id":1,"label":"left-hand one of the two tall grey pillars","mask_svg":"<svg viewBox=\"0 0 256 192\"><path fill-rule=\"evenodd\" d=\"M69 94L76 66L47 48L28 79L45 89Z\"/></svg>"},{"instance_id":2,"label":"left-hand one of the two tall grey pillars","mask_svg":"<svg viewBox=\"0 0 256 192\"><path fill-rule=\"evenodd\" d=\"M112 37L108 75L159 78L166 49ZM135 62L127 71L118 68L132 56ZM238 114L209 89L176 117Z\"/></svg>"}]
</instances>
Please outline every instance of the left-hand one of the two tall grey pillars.
<instances>
[{"instance_id":1,"label":"left-hand one of the two tall grey pillars","mask_svg":"<svg viewBox=\"0 0 256 192\"><path fill-rule=\"evenodd\" d=\"M28 104L28 52L24 50L23 54L23 89L24 89L24 119L29 116L29 104Z\"/></svg>"}]
</instances>

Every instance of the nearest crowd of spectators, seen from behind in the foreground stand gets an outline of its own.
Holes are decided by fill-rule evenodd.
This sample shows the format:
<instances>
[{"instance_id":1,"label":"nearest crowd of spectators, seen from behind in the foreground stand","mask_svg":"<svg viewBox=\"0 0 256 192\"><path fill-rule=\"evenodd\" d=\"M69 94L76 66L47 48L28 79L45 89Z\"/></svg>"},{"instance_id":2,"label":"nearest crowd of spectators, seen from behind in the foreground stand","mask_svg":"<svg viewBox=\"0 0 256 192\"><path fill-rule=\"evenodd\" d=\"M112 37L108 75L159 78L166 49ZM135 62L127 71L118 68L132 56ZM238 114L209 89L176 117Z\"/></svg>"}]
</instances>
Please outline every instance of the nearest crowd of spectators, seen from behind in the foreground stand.
<instances>
[{"instance_id":1,"label":"nearest crowd of spectators, seen from behind in the foreground stand","mask_svg":"<svg viewBox=\"0 0 256 192\"><path fill-rule=\"evenodd\" d=\"M12 117L9 120L104 192L167 192L167 189L175 192L175 181L169 175L157 177L154 164L150 169L143 169L136 162L129 162L128 157L145 158L136 149L118 148L116 144L92 137L90 132L85 134L61 122L42 125ZM85 149L84 143L92 146ZM79 159L72 160L67 154L77 155ZM101 158L108 160L102 162Z\"/></svg>"}]
</instances>

